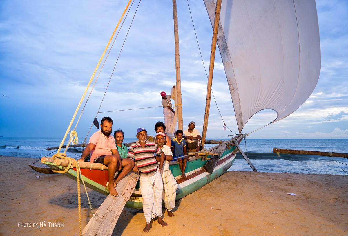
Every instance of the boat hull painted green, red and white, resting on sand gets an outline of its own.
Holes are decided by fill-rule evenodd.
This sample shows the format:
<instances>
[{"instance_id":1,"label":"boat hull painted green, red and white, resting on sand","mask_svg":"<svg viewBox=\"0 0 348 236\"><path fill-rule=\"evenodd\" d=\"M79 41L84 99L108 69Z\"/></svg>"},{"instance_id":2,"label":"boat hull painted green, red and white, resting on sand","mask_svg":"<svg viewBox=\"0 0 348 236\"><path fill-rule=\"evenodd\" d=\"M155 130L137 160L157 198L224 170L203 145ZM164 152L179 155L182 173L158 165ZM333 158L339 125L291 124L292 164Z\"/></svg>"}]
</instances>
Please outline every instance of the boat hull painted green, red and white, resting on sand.
<instances>
[{"instance_id":1,"label":"boat hull painted green, red and white, resting on sand","mask_svg":"<svg viewBox=\"0 0 348 236\"><path fill-rule=\"evenodd\" d=\"M176 200L195 192L224 174L231 167L236 158L236 149L235 146L228 144L225 144L225 146L226 148L224 148L223 152L221 153L212 174L208 174L208 172L204 169L204 165L211 157L210 155L208 155L207 158L204 158L204 160L198 158L196 160L189 161L185 169L185 175L187 176L186 179L181 178L181 171L178 164L170 164L169 169L172 171L178 183L178 188L176 189ZM54 159L52 158L42 158L41 162L50 166L50 168L53 170L65 169L64 166L56 165ZM108 170L106 167L104 170L97 170L93 168L80 170L82 175L81 179L83 179L87 187L106 196L109 195L110 192L106 188L108 184ZM74 181L77 181L76 168L70 168L63 174ZM82 184L82 181L80 181L80 183ZM142 197L139 189L139 182L132 194L132 197L130 197L129 201L126 203L126 207L142 209Z\"/></svg>"}]
</instances>

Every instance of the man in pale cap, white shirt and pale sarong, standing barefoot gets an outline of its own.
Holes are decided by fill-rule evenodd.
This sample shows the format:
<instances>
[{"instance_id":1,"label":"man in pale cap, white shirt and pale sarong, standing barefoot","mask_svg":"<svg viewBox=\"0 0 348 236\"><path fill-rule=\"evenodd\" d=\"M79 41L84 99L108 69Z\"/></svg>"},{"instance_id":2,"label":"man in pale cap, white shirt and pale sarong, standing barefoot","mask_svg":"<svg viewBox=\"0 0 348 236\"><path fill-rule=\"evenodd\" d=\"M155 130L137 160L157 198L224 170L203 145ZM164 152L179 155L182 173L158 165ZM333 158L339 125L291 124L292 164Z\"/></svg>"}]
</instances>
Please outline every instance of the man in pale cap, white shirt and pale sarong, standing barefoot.
<instances>
[{"instance_id":1,"label":"man in pale cap, white shirt and pale sarong, standing barefoot","mask_svg":"<svg viewBox=\"0 0 348 236\"><path fill-rule=\"evenodd\" d=\"M173 160L172 150L164 145L166 135L163 132L158 132L156 134L156 141L158 147L162 149L165 154L165 159L163 163L163 169L161 171L162 180L163 180L163 194L162 199L164 201L164 206L167 209L168 216L174 216L172 210L175 207L175 197L177 182L172 174L172 171L169 170L169 161ZM158 161L158 160L157 160Z\"/></svg>"}]
</instances>

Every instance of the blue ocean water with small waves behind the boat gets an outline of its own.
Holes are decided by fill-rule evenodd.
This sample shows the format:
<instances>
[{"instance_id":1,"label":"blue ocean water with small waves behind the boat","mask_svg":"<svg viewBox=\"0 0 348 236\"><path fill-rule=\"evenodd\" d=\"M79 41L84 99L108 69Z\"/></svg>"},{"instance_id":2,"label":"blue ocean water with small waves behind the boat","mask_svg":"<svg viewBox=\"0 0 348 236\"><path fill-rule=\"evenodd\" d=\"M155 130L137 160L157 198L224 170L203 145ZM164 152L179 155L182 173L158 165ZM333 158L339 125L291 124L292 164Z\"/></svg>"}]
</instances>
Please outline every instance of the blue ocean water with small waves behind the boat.
<instances>
[{"instance_id":1,"label":"blue ocean water with small waves behind the boat","mask_svg":"<svg viewBox=\"0 0 348 236\"><path fill-rule=\"evenodd\" d=\"M208 138L207 138L208 139ZM61 138L0 137L0 155L41 158L52 156L56 150L47 147L59 146ZM83 140L80 140L80 143ZM124 142L135 141L125 138ZM215 146L206 144L206 147ZM347 174L348 158L312 155L273 153L273 148L311 150L320 152L348 153L348 139L248 139L239 145L259 172L303 174ZM79 158L82 148L69 148L68 156ZM0 156L1 158L1 156ZM37 160L33 159L33 162ZM343 170L342 170L342 169ZM237 154L230 171L252 171L245 159ZM346 173L347 172L347 173Z\"/></svg>"}]
</instances>

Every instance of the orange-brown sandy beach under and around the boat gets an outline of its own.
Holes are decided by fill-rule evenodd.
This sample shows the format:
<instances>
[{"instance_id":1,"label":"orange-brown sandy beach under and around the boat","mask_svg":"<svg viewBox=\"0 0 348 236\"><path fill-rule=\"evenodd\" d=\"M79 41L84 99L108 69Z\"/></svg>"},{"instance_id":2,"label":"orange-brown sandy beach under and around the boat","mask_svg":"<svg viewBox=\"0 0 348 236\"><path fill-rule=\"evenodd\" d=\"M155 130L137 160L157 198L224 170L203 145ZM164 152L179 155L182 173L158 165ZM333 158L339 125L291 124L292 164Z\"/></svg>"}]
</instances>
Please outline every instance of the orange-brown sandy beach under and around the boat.
<instances>
[{"instance_id":1,"label":"orange-brown sandy beach under and around the boat","mask_svg":"<svg viewBox=\"0 0 348 236\"><path fill-rule=\"evenodd\" d=\"M35 172L35 160L0 156L0 235L79 235L76 182ZM168 226L155 221L147 234L348 235L347 186L342 175L231 171L178 201L174 217L164 214ZM83 228L92 214L82 189ZM96 211L105 196L88 194ZM144 235L144 225L142 210L125 208L112 235Z\"/></svg>"}]
</instances>

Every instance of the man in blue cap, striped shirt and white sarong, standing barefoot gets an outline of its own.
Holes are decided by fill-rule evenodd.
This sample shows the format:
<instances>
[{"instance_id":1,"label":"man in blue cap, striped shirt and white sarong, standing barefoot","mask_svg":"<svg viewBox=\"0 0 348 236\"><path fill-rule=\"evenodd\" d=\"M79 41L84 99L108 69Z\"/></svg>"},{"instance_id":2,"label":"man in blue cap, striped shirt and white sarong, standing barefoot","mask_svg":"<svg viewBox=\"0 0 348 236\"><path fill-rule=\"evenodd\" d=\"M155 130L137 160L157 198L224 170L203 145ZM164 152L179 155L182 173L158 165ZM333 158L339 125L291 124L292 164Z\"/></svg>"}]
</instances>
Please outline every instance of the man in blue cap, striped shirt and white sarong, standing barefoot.
<instances>
[{"instance_id":1,"label":"man in blue cap, striped shirt and white sarong, standing barefoot","mask_svg":"<svg viewBox=\"0 0 348 236\"><path fill-rule=\"evenodd\" d=\"M161 170L165 154L157 144L147 140L148 131L139 128L136 131L137 141L129 146L127 158L134 158L133 171L140 172L140 192L143 198L143 211L146 220L144 232L151 229L151 219L157 217L157 222L165 227L168 224L161 218L163 183ZM160 156L158 165L156 156Z\"/></svg>"}]
</instances>

